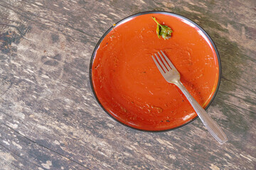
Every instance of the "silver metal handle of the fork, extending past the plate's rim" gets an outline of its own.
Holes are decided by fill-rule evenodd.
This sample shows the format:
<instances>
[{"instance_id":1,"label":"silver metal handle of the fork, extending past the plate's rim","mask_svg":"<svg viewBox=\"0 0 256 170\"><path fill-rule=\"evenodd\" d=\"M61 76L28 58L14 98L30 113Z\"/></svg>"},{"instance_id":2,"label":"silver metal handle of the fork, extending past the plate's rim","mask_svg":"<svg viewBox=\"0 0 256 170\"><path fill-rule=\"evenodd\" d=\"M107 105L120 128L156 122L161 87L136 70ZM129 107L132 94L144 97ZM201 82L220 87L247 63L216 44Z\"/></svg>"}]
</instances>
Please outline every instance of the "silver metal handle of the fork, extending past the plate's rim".
<instances>
[{"instance_id":1,"label":"silver metal handle of the fork, extending past the plate's rim","mask_svg":"<svg viewBox=\"0 0 256 170\"><path fill-rule=\"evenodd\" d=\"M226 137L225 133L220 129L220 127L215 123L215 121L210 118L210 116L206 113L206 111L201 107L201 105L191 96L191 94L188 93L187 89L181 81L176 81L176 86L178 86L179 89L183 92L183 94L188 99L189 103L191 103L193 109L196 111L198 117L202 120L203 125L206 126L208 131L211 135L220 142L222 145L223 143L228 141L228 138Z\"/></svg>"}]
</instances>

